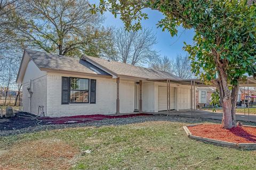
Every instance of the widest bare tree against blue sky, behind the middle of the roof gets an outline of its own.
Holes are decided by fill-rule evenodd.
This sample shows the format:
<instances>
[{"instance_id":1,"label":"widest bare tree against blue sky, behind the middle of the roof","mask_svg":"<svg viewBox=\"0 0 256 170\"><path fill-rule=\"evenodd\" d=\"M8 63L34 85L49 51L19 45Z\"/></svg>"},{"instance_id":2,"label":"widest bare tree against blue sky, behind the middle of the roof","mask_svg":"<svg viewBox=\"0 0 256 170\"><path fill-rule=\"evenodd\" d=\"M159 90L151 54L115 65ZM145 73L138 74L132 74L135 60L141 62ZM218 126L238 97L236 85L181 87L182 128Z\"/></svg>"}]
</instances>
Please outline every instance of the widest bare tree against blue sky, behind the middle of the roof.
<instances>
[{"instance_id":1,"label":"widest bare tree against blue sky, behind the middle of the roof","mask_svg":"<svg viewBox=\"0 0 256 170\"><path fill-rule=\"evenodd\" d=\"M115 61L139 65L159 57L154 50L156 36L149 29L130 32L124 28L116 29L113 33L113 42L116 53L109 58Z\"/></svg>"}]
</instances>

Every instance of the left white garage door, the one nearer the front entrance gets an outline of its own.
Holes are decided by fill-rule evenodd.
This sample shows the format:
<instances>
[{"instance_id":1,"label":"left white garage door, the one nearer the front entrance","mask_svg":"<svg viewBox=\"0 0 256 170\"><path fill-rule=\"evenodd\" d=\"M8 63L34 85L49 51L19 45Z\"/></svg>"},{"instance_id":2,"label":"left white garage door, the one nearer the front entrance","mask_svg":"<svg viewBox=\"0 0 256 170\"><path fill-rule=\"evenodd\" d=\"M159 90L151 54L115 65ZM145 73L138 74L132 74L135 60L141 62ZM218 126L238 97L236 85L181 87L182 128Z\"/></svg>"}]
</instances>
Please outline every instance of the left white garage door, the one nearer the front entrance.
<instances>
[{"instance_id":1,"label":"left white garage door, the one nearer the front entrance","mask_svg":"<svg viewBox=\"0 0 256 170\"><path fill-rule=\"evenodd\" d=\"M170 87L171 109L175 108L175 88ZM167 110L167 87L158 86L158 111Z\"/></svg>"}]
</instances>

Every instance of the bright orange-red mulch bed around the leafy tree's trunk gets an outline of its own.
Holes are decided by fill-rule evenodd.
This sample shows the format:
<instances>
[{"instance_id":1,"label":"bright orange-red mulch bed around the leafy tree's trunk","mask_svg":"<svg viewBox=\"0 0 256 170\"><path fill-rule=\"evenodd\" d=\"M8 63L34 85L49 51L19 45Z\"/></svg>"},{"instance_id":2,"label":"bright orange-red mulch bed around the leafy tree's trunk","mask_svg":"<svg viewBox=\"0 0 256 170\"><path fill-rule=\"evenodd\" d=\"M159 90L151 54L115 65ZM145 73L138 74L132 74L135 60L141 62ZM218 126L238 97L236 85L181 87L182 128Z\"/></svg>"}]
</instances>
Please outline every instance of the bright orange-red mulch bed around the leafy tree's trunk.
<instances>
[{"instance_id":1,"label":"bright orange-red mulch bed around the leafy tree's trunk","mask_svg":"<svg viewBox=\"0 0 256 170\"><path fill-rule=\"evenodd\" d=\"M221 124L188 126L192 135L234 143L256 143L256 128L237 126L229 130Z\"/></svg>"}]
</instances>

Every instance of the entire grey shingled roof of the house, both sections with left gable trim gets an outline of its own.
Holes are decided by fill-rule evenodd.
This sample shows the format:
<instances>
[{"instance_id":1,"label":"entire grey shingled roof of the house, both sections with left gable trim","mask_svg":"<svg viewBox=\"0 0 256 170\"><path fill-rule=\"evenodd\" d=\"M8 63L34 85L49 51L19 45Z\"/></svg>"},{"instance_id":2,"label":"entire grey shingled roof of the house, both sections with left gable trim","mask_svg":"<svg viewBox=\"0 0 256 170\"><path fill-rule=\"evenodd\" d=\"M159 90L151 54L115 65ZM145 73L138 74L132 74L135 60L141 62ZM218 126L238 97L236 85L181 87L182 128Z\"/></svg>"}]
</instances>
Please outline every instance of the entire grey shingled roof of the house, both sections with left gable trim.
<instances>
[{"instance_id":1,"label":"entire grey shingled roof of the house, both sections with left gable trim","mask_svg":"<svg viewBox=\"0 0 256 170\"><path fill-rule=\"evenodd\" d=\"M140 79L172 79L183 80L169 72L147 69L145 67L108 61L102 58L84 56L81 60L63 55L39 52L25 49L20 64L17 82L21 82L26 71L27 64L33 60L41 71L65 71L70 73L86 73L90 75L103 75L117 77L129 77Z\"/></svg>"}]
</instances>

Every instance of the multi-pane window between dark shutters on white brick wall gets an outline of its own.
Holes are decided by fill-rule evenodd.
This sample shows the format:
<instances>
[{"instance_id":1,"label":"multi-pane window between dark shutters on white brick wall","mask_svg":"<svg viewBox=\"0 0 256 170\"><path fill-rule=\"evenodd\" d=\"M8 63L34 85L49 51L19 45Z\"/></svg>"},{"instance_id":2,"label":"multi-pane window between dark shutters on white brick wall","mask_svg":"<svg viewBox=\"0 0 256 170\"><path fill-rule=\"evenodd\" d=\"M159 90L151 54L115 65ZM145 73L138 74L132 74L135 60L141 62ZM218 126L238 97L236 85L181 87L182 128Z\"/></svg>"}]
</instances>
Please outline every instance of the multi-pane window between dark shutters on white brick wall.
<instances>
[{"instance_id":1,"label":"multi-pane window between dark shutters on white brick wall","mask_svg":"<svg viewBox=\"0 0 256 170\"><path fill-rule=\"evenodd\" d=\"M70 103L89 103L89 79L70 78Z\"/></svg>"}]
</instances>

